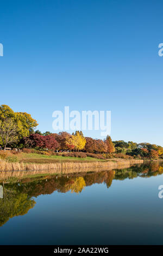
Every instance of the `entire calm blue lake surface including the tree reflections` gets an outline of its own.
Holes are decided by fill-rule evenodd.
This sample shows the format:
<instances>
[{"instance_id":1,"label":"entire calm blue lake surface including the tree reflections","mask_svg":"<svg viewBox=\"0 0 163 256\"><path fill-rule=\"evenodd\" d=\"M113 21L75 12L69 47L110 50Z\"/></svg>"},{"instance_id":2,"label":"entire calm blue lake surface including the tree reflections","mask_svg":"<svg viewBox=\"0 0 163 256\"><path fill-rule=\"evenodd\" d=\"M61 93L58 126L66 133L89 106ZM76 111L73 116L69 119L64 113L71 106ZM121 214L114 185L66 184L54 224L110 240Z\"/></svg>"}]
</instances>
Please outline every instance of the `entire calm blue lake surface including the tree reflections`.
<instances>
[{"instance_id":1,"label":"entire calm blue lake surface including the tree reflections","mask_svg":"<svg viewBox=\"0 0 163 256\"><path fill-rule=\"evenodd\" d=\"M0 183L1 245L163 245L163 165Z\"/></svg>"}]
</instances>

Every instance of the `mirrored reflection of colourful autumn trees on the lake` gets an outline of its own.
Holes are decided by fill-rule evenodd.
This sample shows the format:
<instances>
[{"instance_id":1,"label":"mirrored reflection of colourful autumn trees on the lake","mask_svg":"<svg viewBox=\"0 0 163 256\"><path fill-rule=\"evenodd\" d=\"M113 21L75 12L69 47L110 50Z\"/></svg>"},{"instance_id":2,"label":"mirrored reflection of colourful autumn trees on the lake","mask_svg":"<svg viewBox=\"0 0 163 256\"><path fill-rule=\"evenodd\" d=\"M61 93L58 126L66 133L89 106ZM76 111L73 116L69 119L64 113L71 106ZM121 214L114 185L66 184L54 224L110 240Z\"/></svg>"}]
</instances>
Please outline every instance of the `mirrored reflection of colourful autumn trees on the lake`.
<instances>
[{"instance_id":1,"label":"mirrored reflection of colourful autumn trees on the lake","mask_svg":"<svg viewBox=\"0 0 163 256\"><path fill-rule=\"evenodd\" d=\"M41 194L52 194L54 191L81 193L85 187L95 183L104 183L109 188L114 179L147 178L162 173L163 165L153 162L152 164L136 165L122 170L80 173L68 176L49 175L25 178L17 182L3 182L0 184L0 227L9 218L25 215L35 205L33 197L38 197Z\"/></svg>"}]
</instances>

